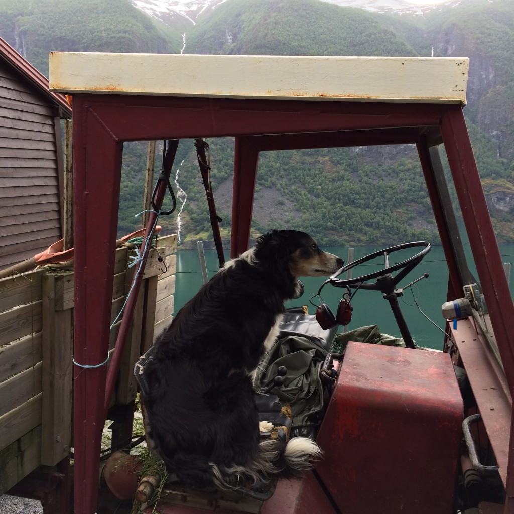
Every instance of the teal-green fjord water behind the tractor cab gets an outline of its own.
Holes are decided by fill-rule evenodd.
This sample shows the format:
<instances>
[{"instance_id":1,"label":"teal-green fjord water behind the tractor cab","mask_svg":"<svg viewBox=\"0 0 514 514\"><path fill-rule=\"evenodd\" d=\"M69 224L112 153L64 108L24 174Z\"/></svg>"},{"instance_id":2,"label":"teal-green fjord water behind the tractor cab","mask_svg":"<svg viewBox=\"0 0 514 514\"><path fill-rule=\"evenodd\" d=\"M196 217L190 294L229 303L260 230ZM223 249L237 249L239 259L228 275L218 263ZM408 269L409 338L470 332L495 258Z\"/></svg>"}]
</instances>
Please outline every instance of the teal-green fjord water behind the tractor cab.
<instances>
[{"instance_id":1,"label":"teal-green fjord water behind the tractor cab","mask_svg":"<svg viewBox=\"0 0 514 514\"><path fill-rule=\"evenodd\" d=\"M354 249L354 260L360 259L364 255L381 250L381 247L366 246ZM347 248L323 248L323 250L340 256L347 262ZM416 250L414 253L416 253ZM514 245L501 245L500 252L503 262L514 262ZM411 254L413 254L411 252ZM225 250L226 259L229 251ZM206 265L209 278L218 269L218 260L215 250L205 250ZM401 260L405 259L403 257ZM374 263L376 261L373 261ZM383 263L383 261L381 261ZM398 262L398 261L394 261ZM469 261L471 262L471 260ZM370 273L381 269L379 264L368 264L355 267L353 277ZM471 264L470 264L471 267ZM432 250L425 256L425 259L418 264L408 276L403 279L397 287L405 287L409 282L421 277L425 272L429 274L410 288L403 291L403 296L398 299L403 317L407 321L412 338L419 346L443 349L444 334L440 329L445 328L445 320L441 314L441 306L446 302L446 292L448 288L448 267L440 246L432 247ZM395 273L394 273L395 274ZM341 277L343 278L343 277ZM319 305L316 296L319 287L324 282L323 277L306 277L302 279L305 292L301 298L289 302L287 306L308 306L308 313L314 314L316 306L309 302L309 298L314 296L312 302ZM512 283L510 280L510 289ZM177 252L177 273L175 283L175 313L198 291L202 284L200 261L198 253L194 250L179 250ZM344 289L333 287L327 284L321 291L321 298L335 313ZM464 296L464 294L462 295ZM420 313L419 308L437 325L434 326L427 318ZM353 330L364 325L378 325L382 333L394 337L400 337L398 326L394 319L391 307L387 300L382 298L380 291L359 290L352 299L353 318L348 325L348 330ZM342 327L339 327L342 332Z\"/></svg>"}]
</instances>

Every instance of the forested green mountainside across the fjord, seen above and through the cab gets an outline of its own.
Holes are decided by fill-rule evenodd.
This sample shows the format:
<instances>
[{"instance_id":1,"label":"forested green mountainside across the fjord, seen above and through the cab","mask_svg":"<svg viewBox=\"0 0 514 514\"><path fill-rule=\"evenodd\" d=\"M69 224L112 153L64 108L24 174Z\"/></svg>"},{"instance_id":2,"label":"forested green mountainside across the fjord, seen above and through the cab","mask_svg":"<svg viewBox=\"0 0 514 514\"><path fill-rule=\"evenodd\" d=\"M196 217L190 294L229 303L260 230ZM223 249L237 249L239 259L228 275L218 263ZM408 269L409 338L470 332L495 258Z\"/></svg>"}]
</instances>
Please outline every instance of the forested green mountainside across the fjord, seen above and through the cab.
<instances>
[{"instance_id":1,"label":"forested green mountainside across the fjord, seen above and through the cab","mask_svg":"<svg viewBox=\"0 0 514 514\"><path fill-rule=\"evenodd\" d=\"M50 50L177 53L184 39L186 53L470 57L465 113L493 222L506 242L514 242L513 34L511 0L465 0L424 16L319 0L227 0L182 33L129 0L0 0L0 36L44 73ZM209 144L228 241L233 140ZM123 233L140 223L134 215L142 205L145 151L145 143L125 145ZM180 143L175 173L174 188L185 192L179 194L180 236L187 246L210 231L193 141ZM161 224L176 231L177 215ZM405 145L262 154L254 228L285 227L312 232L325 245L437 242L417 153Z\"/></svg>"}]
</instances>

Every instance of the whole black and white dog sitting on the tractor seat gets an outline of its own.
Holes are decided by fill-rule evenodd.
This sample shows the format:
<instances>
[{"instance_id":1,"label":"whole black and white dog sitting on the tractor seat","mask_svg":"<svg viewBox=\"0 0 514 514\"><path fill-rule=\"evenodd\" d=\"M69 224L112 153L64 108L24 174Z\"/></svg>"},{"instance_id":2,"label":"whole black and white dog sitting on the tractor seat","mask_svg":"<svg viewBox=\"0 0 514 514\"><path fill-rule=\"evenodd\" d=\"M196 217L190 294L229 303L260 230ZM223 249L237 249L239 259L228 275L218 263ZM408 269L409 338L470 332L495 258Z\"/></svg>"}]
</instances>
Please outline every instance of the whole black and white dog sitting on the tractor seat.
<instances>
[{"instance_id":1,"label":"whole black and white dog sitting on the tractor seat","mask_svg":"<svg viewBox=\"0 0 514 514\"><path fill-rule=\"evenodd\" d=\"M181 482L251 486L277 473L299 476L321 456L306 437L259 443L252 375L279 335L298 278L328 276L342 264L303 232L272 231L227 262L156 340L144 371L148 435Z\"/></svg>"}]
</instances>

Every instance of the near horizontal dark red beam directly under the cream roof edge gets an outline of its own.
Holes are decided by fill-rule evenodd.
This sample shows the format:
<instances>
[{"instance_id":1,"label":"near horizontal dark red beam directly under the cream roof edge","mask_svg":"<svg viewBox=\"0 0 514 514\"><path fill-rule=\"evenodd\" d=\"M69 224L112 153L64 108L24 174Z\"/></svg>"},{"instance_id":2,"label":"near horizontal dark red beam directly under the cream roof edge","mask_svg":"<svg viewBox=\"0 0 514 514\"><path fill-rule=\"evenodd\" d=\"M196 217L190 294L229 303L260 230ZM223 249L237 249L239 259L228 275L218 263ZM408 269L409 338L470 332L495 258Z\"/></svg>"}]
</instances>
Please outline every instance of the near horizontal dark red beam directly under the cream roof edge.
<instances>
[{"instance_id":1,"label":"near horizontal dark red beam directly under the cream roof edge","mask_svg":"<svg viewBox=\"0 0 514 514\"><path fill-rule=\"evenodd\" d=\"M302 133L437 125L444 106L88 95L119 140ZM128 113L137 122L127 122ZM378 144L378 143L376 143ZM313 147L315 148L315 147Z\"/></svg>"}]
</instances>

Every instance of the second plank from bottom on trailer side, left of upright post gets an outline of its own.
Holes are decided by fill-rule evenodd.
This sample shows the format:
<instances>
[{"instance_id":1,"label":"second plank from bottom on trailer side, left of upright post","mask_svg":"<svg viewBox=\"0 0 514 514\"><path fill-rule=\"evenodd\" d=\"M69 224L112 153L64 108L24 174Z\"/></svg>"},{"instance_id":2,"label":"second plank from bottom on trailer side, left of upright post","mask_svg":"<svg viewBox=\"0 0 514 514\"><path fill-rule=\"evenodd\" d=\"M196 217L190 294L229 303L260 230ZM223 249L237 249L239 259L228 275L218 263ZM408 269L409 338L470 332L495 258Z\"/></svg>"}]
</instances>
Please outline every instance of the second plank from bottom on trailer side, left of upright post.
<instances>
[{"instance_id":1,"label":"second plank from bottom on trailer side, left of upright post","mask_svg":"<svg viewBox=\"0 0 514 514\"><path fill-rule=\"evenodd\" d=\"M0 449L13 443L34 427L41 425L41 401L43 393L30 398L7 414L0 416ZM4 463L0 458L0 473Z\"/></svg>"}]
</instances>

